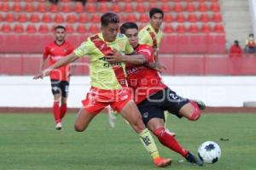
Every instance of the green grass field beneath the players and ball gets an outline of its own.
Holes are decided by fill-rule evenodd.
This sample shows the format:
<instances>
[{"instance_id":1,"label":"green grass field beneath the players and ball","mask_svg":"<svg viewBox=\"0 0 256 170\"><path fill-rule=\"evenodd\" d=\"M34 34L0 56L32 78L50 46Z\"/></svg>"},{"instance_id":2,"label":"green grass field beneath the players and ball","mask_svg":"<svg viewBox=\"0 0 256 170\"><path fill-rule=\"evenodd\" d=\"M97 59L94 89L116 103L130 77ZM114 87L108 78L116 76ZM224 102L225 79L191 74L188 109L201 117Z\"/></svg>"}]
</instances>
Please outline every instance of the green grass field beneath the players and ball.
<instances>
[{"instance_id":1,"label":"green grass field beneath the players and ball","mask_svg":"<svg viewBox=\"0 0 256 170\"><path fill-rule=\"evenodd\" d=\"M99 115L86 132L73 130L75 115L56 131L49 114L0 114L1 170L134 170L157 169L137 134L118 117L115 128L106 115ZM256 114L207 114L198 122L169 116L168 127L185 148L196 153L207 140L217 142L222 157L212 165L196 167L155 139L162 156L172 157L168 169L256 169ZM221 141L220 139L229 139Z\"/></svg>"}]
</instances>

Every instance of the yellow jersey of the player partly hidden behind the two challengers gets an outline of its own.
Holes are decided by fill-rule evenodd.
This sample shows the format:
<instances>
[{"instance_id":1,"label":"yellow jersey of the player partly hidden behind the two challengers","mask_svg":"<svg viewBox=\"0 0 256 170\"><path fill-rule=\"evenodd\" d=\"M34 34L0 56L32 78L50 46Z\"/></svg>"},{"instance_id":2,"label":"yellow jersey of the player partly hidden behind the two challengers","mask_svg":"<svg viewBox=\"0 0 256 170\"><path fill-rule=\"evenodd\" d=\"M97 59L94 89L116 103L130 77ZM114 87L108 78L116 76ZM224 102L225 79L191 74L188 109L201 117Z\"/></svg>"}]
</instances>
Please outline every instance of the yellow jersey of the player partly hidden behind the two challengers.
<instances>
[{"instance_id":1,"label":"yellow jersey of the player partly hidden behind the two challengers","mask_svg":"<svg viewBox=\"0 0 256 170\"><path fill-rule=\"evenodd\" d=\"M150 32L154 33L154 36L156 38L156 47L154 47L154 40L150 35ZM156 33L154 31L154 28L150 24L148 24L147 26L143 27L141 31L139 31L138 37L140 44L148 44L152 48L158 49L160 47L160 42L163 37L163 32L159 30L158 33Z\"/></svg>"}]
</instances>

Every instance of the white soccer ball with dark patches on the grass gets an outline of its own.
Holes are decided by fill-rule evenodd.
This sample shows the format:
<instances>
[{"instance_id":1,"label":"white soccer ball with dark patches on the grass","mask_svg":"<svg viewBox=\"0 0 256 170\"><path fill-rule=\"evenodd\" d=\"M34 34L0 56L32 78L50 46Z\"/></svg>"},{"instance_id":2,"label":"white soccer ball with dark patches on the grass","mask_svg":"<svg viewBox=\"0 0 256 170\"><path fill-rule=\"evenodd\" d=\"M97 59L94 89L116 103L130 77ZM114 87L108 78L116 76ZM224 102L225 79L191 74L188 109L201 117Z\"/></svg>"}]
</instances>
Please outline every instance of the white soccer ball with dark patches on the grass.
<instances>
[{"instance_id":1,"label":"white soccer ball with dark patches on the grass","mask_svg":"<svg viewBox=\"0 0 256 170\"><path fill-rule=\"evenodd\" d=\"M198 156L205 163L215 163L221 156L221 150L215 142L207 141L199 146Z\"/></svg>"}]
</instances>

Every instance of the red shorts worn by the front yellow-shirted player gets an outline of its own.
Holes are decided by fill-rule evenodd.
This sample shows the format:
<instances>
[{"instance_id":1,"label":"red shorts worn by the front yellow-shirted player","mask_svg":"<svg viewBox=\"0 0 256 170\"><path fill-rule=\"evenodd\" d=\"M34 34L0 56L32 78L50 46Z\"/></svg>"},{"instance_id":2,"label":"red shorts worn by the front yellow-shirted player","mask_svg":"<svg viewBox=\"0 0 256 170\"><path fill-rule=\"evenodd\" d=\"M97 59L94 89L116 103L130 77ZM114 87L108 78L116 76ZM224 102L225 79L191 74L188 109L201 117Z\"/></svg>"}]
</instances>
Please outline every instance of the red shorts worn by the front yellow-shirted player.
<instances>
[{"instance_id":1,"label":"red shorts worn by the front yellow-shirted player","mask_svg":"<svg viewBox=\"0 0 256 170\"><path fill-rule=\"evenodd\" d=\"M97 114L108 105L111 105L114 111L122 111L131 99L130 88L103 90L91 87L82 103L86 112Z\"/></svg>"}]
</instances>

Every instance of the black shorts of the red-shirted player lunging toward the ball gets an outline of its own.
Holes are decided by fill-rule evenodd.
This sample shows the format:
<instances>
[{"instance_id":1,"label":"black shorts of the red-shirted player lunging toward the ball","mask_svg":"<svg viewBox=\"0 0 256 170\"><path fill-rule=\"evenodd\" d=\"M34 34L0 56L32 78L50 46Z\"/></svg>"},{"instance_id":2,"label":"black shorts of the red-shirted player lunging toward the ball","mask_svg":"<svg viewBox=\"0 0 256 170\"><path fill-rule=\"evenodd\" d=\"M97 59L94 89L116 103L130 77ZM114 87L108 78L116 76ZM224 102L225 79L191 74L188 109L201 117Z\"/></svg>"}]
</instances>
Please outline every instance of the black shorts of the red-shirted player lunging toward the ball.
<instances>
[{"instance_id":1,"label":"black shorts of the red-shirted player lunging toward the ball","mask_svg":"<svg viewBox=\"0 0 256 170\"><path fill-rule=\"evenodd\" d=\"M173 92L170 88L165 88L160 90L156 94L153 94L144 99L141 103L137 105L138 110L143 116L143 122L145 125L152 118L161 118L165 120L165 111L169 111L177 117L182 117L179 115L179 110L189 103L189 99L183 99Z\"/></svg>"}]
</instances>

